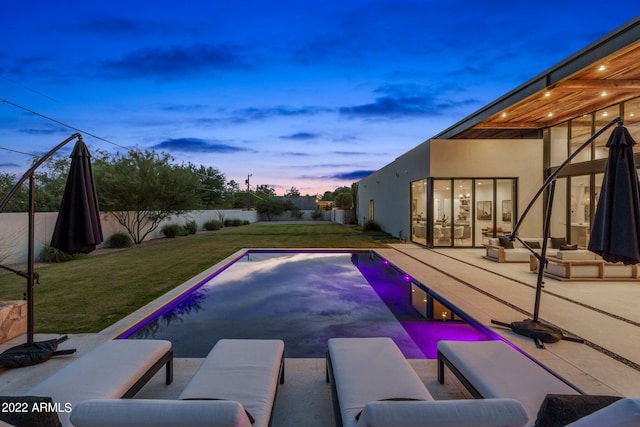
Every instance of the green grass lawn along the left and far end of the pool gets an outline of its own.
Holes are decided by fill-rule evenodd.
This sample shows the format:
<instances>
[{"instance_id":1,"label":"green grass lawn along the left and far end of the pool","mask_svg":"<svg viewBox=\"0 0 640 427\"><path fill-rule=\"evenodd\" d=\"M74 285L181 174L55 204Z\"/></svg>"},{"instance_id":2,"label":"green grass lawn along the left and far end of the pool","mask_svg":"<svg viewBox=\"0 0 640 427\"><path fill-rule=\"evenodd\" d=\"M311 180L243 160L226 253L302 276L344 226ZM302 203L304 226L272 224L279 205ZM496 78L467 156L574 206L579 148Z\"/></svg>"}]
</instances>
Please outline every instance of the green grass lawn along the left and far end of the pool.
<instances>
[{"instance_id":1,"label":"green grass lawn along the left and far end of the pool","mask_svg":"<svg viewBox=\"0 0 640 427\"><path fill-rule=\"evenodd\" d=\"M94 333L134 312L242 248L375 248L368 236L338 224L252 224L42 266L36 271L36 333ZM0 299L22 299L26 280L0 276Z\"/></svg>"}]
</instances>

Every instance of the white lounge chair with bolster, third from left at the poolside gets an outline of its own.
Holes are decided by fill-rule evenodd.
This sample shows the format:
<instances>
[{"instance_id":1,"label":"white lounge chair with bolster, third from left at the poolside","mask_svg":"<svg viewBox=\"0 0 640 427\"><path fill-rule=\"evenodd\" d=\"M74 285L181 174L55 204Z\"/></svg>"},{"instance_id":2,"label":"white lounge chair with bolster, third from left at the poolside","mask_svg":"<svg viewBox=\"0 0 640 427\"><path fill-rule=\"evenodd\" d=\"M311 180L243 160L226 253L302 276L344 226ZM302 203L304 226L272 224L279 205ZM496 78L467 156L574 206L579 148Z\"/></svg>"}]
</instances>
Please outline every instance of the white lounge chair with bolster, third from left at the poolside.
<instances>
[{"instance_id":1,"label":"white lounge chair with bolster, third from left at the poolside","mask_svg":"<svg viewBox=\"0 0 640 427\"><path fill-rule=\"evenodd\" d=\"M327 381L337 427L522 426L512 399L435 401L390 338L332 338Z\"/></svg>"}]
</instances>

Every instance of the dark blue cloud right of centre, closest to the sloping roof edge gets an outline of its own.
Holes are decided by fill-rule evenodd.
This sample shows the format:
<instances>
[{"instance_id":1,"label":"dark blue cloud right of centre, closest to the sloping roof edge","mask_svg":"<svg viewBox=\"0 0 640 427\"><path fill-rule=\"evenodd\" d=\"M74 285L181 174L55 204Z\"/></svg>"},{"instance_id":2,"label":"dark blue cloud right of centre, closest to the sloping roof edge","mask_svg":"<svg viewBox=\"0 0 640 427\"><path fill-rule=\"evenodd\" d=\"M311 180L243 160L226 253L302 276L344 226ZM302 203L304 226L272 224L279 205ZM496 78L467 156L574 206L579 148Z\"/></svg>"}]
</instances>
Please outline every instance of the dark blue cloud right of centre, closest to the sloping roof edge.
<instances>
[{"instance_id":1,"label":"dark blue cloud right of centre, closest to the sloping roof edge","mask_svg":"<svg viewBox=\"0 0 640 427\"><path fill-rule=\"evenodd\" d=\"M461 106L475 105L479 101L438 101L426 88L418 85L386 85L374 91L381 93L374 102L340 108L347 117L386 117L390 119L407 116L442 116L446 111Z\"/></svg>"}]
</instances>

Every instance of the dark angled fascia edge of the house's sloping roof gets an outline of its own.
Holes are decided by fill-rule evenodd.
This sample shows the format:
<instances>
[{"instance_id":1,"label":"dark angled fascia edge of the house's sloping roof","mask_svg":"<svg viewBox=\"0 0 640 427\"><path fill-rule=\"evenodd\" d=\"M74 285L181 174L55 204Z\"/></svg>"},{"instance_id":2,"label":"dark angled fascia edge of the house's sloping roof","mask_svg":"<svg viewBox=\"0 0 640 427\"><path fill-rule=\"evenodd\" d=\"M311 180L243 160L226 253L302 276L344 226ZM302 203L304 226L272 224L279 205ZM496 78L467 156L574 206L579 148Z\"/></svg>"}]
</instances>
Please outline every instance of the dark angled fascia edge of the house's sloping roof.
<instances>
[{"instance_id":1,"label":"dark angled fascia edge of the house's sloping roof","mask_svg":"<svg viewBox=\"0 0 640 427\"><path fill-rule=\"evenodd\" d=\"M451 139L494 114L640 40L640 16L611 31L548 70L465 117L430 139ZM427 140L428 141L428 140ZM426 141L425 141L426 142Z\"/></svg>"}]
</instances>

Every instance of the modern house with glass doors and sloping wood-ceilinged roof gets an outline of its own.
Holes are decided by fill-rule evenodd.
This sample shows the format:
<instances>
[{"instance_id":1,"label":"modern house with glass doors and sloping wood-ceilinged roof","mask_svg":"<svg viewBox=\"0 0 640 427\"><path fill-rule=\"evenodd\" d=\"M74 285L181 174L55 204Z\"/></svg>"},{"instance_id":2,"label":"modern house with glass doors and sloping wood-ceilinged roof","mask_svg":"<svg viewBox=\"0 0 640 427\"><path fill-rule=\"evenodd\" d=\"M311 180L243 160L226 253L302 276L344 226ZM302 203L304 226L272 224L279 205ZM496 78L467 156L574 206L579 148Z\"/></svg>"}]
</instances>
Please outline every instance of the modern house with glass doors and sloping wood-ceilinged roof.
<instances>
[{"instance_id":1,"label":"modern house with glass doors and sloping wood-ceilinged roof","mask_svg":"<svg viewBox=\"0 0 640 427\"><path fill-rule=\"evenodd\" d=\"M617 117L640 142L640 17L362 179L359 221L424 246L481 246L512 231L545 178ZM612 130L558 175L552 236L587 244ZM545 204L520 236L542 235Z\"/></svg>"}]
</instances>

